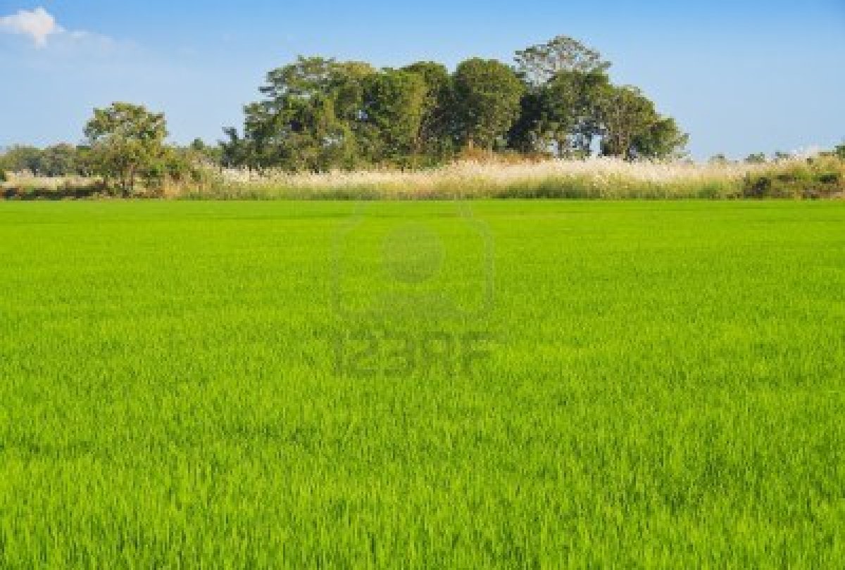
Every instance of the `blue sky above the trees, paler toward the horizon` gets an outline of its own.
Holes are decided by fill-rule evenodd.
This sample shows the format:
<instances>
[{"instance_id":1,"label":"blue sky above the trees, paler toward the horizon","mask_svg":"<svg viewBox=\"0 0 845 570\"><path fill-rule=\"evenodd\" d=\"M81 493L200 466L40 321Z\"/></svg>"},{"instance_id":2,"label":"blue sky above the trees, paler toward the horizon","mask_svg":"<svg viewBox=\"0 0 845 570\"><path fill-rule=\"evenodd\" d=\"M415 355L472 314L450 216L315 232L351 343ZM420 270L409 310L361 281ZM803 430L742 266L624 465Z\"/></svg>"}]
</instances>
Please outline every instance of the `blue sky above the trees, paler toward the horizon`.
<instances>
[{"instance_id":1,"label":"blue sky above the trees, paler toward the horizon","mask_svg":"<svg viewBox=\"0 0 845 570\"><path fill-rule=\"evenodd\" d=\"M165 111L174 140L213 141L297 54L451 68L559 34L676 117L697 158L845 138L845 0L0 0L0 145L76 142L113 100Z\"/></svg>"}]
</instances>

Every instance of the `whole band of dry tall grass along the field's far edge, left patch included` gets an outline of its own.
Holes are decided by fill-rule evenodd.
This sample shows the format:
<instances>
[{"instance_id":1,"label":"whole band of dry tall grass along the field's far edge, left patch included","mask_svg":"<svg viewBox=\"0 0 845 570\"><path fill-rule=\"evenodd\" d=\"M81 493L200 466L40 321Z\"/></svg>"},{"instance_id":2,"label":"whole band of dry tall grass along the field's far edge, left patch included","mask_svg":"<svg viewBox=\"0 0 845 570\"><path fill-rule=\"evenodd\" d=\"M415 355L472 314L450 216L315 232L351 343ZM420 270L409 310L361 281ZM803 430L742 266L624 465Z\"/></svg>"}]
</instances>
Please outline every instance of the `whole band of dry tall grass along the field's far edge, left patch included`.
<instances>
[{"instance_id":1,"label":"whole band of dry tall grass along the field's far edge, left patch included","mask_svg":"<svg viewBox=\"0 0 845 570\"><path fill-rule=\"evenodd\" d=\"M453 198L829 198L845 192L845 162L831 156L767 164L695 164L588 160L463 160L398 171L223 170L204 167L201 182L164 182L138 198L170 199L453 199ZM98 198L86 178L10 176L6 198Z\"/></svg>"}]
</instances>

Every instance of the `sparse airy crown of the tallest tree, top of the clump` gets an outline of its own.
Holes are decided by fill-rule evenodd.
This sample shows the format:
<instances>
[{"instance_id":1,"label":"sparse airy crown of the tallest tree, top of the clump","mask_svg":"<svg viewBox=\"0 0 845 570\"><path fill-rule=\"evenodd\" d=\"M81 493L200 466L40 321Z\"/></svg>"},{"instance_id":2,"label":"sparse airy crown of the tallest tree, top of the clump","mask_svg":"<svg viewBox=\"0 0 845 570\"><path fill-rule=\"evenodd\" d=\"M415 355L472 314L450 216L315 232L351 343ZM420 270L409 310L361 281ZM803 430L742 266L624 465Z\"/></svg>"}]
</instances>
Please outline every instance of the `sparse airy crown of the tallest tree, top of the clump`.
<instances>
[{"instance_id":1,"label":"sparse airy crown of the tallest tree, top of the clump","mask_svg":"<svg viewBox=\"0 0 845 570\"><path fill-rule=\"evenodd\" d=\"M602 54L567 35L516 52L517 71L529 84L541 85L560 72L603 73L610 62Z\"/></svg>"}]
</instances>

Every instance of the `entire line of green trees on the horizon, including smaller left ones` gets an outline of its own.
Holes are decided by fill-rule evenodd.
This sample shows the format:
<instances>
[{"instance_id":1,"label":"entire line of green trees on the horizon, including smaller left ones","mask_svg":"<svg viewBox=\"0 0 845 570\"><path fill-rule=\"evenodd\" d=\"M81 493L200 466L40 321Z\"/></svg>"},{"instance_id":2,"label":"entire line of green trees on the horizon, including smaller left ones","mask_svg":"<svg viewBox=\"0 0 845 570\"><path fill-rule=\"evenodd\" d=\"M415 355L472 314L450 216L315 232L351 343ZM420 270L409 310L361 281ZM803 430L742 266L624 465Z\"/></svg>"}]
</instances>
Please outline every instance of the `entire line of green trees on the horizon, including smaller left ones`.
<instances>
[{"instance_id":1,"label":"entire line of green trees on the horizon, including smaller left ones","mask_svg":"<svg viewBox=\"0 0 845 570\"><path fill-rule=\"evenodd\" d=\"M216 145L166 144L163 114L114 103L95 109L82 144L0 152L0 182L4 171L97 176L128 195L138 183L199 181L208 175L203 166L296 172L435 166L493 152L681 156L688 137L673 118L641 90L614 85L608 68L600 53L567 36L516 52L511 66L472 58L452 73L436 62L375 69L299 57L267 74L262 99L244 107L243 128L223 129ZM834 153L845 159L845 145Z\"/></svg>"}]
</instances>

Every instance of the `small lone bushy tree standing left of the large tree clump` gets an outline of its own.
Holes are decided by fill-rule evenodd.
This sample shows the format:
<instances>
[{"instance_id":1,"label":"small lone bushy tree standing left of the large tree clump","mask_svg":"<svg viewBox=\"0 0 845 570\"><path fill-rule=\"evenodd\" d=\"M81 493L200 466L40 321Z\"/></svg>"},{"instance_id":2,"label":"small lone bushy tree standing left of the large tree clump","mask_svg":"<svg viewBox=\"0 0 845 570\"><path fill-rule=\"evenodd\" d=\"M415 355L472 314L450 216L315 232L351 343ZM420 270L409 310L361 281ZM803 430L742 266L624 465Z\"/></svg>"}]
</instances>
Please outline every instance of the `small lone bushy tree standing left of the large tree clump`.
<instances>
[{"instance_id":1,"label":"small lone bushy tree standing left of the large tree clump","mask_svg":"<svg viewBox=\"0 0 845 570\"><path fill-rule=\"evenodd\" d=\"M124 196L134 192L139 178L149 179L160 171L161 161L166 160L165 117L144 106L112 103L95 109L85 136L94 171L106 184L116 182Z\"/></svg>"}]
</instances>

